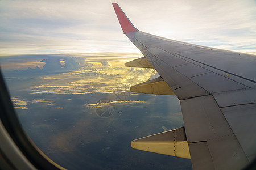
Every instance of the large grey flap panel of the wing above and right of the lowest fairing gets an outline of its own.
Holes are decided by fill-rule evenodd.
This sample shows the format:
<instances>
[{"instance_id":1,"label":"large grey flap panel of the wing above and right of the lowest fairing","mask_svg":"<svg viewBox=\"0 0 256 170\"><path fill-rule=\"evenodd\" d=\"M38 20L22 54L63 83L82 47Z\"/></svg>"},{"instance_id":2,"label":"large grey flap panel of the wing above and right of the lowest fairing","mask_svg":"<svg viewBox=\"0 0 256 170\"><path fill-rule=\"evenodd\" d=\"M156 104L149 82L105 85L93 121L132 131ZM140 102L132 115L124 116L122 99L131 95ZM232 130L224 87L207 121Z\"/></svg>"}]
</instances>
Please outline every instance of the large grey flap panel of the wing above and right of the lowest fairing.
<instances>
[{"instance_id":1,"label":"large grey flap panel of the wing above and right of the lowest fairing","mask_svg":"<svg viewBox=\"0 0 256 170\"><path fill-rule=\"evenodd\" d=\"M216 169L242 169L249 164L245 152L212 95L182 100L180 104L187 141L206 141ZM196 158L198 154L200 153L191 152L191 158Z\"/></svg>"}]
</instances>

